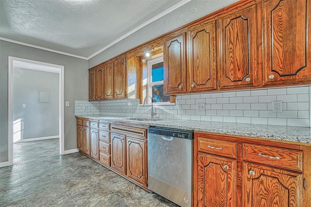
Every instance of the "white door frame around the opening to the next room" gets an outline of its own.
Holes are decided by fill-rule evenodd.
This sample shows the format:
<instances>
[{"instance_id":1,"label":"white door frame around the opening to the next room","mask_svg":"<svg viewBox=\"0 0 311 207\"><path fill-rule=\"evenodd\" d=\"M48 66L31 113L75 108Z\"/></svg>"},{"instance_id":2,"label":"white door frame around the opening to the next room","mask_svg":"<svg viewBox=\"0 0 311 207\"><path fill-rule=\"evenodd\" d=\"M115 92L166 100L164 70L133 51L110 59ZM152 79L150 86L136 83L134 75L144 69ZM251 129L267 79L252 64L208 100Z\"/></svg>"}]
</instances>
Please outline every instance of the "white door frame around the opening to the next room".
<instances>
[{"instance_id":1,"label":"white door frame around the opening to the next room","mask_svg":"<svg viewBox=\"0 0 311 207\"><path fill-rule=\"evenodd\" d=\"M49 64L17 57L8 57L8 165L13 165L13 67L14 62L25 62L54 67L59 73L59 153L65 155L64 123L64 65Z\"/></svg>"}]
</instances>

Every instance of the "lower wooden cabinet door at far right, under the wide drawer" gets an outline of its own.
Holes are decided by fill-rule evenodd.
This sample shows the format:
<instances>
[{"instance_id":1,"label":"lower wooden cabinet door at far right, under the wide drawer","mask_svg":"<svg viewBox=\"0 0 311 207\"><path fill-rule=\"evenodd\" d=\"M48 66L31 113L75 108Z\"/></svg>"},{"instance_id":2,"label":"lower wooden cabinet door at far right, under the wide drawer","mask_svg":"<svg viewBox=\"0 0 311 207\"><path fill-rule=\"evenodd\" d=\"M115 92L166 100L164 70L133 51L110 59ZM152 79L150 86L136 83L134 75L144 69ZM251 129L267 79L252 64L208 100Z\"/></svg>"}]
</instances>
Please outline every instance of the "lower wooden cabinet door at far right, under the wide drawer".
<instances>
[{"instance_id":1,"label":"lower wooden cabinet door at far right, under the wide drawer","mask_svg":"<svg viewBox=\"0 0 311 207\"><path fill-rule=\"evenodd\" d=\"M243 207L302 207L303 175L244 162Z\"/></svg>"}]
</instances>

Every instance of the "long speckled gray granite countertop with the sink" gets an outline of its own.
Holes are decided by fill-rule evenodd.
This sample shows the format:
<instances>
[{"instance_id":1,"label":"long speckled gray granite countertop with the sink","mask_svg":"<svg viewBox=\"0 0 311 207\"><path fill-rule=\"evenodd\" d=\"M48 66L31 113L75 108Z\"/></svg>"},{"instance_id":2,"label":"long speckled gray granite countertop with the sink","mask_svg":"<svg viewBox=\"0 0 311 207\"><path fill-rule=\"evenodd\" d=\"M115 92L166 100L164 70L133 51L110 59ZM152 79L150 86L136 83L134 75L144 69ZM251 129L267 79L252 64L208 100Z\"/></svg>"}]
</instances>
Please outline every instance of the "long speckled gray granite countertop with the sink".
<instances>
[{"instance_id":1,"label":"long speckled gray granite countertop with the sink","mask_svg":"<svg viewBox=\"0 0 311 207\"><path fill-rule=\"evenodd\" d=\"M93 115L76 117L99 119L110 123L127 123L137 125L147 125L155 127L169 127L187 129L193 131L203 131L219 134L238 135L246 137L267 138L273 140L292 141L299 143L311 143L310 127L286 127L276 125L240 124L226 122L191 121L176 119L161 119L156 121L136 121L128 120L122 116Z\"/></svg>"}]
</instances>

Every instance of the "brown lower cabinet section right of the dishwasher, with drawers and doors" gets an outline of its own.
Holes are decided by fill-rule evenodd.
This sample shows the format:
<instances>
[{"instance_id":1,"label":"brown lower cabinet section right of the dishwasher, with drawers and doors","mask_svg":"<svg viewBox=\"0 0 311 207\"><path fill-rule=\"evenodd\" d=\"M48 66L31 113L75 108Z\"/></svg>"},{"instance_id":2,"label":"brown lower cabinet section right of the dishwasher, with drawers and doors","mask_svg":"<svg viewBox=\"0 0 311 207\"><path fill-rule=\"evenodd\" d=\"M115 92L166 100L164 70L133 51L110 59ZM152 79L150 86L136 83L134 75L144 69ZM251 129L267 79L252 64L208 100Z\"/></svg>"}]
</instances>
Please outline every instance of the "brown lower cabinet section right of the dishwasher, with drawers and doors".
<instances>
[{"instance_id":1,"label":"brown lower cabinet section right of the dishwasher, with drawers and doors","mask_svg":"<svg viewBox=\"0 0 311 207\"><path fill-rule=\"evenodd\" d=\"M310 144L195 133L194 207L309 207Z\"/></svg>"}]
</instances>

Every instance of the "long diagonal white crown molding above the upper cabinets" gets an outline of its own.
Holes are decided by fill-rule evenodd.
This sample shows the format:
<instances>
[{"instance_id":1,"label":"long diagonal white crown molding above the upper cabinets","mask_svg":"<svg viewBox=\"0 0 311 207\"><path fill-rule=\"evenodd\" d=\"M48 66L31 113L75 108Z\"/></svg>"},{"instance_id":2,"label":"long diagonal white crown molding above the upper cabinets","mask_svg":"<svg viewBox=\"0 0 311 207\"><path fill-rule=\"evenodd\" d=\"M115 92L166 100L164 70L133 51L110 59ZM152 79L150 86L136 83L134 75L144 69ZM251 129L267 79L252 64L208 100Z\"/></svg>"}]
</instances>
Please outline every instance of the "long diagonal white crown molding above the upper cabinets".
<instances>
[{"instance_id":1,"label":"long diagonal white crown molding above the upper cabinets","mask_svg":"<svg viewBox=\"0 0 311 207\"><path fill-rule=\"evenodd\" d=\"M139 25L138 27L134 28L133 30L131 30L130 32L125 33L124 35L122 35L121 37L119 37L118 39L116 39L115 41L111 42L110 44L108 44L107 46L105 46L104 48L98 50L97 52L93 53L92 55L87 57L87 60L91 59L92 57L98 55L99 53L103 52L104 50L110 48L111 46L117 44L118 42L120 42L121 40L125 39L126 37L130 36L131 34L133 34L134 32L137 32L138 30L140 30L141 28L147 26L148 24L151 24L152 22L154 22L155 20L161 18L162 16L165 16L167 14L169 14L170 12L173 12L175 9L178 9L179 7L183 6L184 4L190 2L191 0L182 0L178 3L176 3L175 5L173 5L172 7L168 8L167 10L165 10L164 12L161 12L160 14L152 17L151 19L145 21L144 23L142 23L141 25Z\"/></svg>"}]
</instances>

